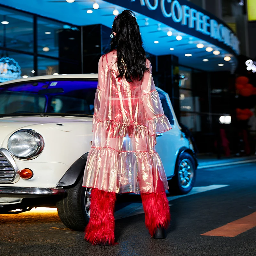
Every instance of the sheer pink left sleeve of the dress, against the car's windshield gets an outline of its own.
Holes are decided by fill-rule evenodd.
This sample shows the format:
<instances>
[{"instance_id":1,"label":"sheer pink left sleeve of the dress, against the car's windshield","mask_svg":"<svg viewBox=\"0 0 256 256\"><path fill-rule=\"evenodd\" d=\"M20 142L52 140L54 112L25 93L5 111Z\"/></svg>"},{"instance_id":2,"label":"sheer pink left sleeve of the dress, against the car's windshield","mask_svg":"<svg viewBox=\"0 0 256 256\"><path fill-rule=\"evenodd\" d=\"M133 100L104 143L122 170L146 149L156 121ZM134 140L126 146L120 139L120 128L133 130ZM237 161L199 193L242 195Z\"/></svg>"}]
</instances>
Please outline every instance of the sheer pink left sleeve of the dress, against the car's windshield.
<instances>
[{"instance_id":1,"label":"sheer pink left sleeve of the dress, against the car's windshield","mask_svg":"<svg viewBox=\"0 0 256 256\"><path fill-rule=\"evenodd\" d=\"M98 112L100 109L100 100L101 100L100 98L101 98L101 94L102 94L103 83L105 80L105 69L103 67L102 59L103 59L103 56L100 57L100 60L98 63L98 86L97 86L95 98L94 98L94 113L93 113L93 120L92 120L92 132L93 132L94 124L97 121Z\"/></svg>"}]
</instances>

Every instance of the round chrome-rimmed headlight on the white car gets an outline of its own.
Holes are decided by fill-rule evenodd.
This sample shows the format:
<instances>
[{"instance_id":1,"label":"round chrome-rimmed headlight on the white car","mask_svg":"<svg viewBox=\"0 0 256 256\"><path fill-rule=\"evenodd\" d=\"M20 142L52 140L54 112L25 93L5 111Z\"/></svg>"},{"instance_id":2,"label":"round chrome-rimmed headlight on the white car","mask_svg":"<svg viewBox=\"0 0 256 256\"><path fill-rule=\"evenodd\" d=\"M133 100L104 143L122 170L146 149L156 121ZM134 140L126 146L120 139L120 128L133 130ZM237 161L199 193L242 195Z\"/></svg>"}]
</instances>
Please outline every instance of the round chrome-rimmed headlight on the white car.
<instances>
[{"instance_id":1,"label":"round chrome-rimmed headlight on the white car","mask_svg":"<svg viewBox=\"0 0 256 256\"><path fill-rule=\"evenodd\" d=\"M43 137L30 129L14 132L8 140L8 150L19 159L29 160L35 158L43 149Z\"/></svg>"}]
</instances>

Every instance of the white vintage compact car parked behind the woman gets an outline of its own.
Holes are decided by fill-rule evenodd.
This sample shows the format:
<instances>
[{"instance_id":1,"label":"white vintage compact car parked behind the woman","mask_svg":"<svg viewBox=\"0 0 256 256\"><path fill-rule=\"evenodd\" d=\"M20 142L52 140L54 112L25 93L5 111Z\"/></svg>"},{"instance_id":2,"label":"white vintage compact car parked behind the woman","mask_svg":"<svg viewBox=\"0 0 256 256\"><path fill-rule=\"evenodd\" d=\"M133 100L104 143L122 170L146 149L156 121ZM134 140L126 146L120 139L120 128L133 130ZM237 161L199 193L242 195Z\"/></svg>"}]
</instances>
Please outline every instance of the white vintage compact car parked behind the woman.
<instances>
[{"instance_id":1,"label":"white vintage compact car parked behind the woman","mask_svg":"<svg viewBox=\"0 0 256 256\"><path fill-rule=\"evenodd\" d=\"M92 141L97 74L29 77L0 85L0 213L57 207L60 219L84 230L90 188L82 187ZM157 88L172 130L157 136L169 190L188 193L196 156L167 93ZM15 212L17 213L17 212Z\"/></svg>"}]
</instances>

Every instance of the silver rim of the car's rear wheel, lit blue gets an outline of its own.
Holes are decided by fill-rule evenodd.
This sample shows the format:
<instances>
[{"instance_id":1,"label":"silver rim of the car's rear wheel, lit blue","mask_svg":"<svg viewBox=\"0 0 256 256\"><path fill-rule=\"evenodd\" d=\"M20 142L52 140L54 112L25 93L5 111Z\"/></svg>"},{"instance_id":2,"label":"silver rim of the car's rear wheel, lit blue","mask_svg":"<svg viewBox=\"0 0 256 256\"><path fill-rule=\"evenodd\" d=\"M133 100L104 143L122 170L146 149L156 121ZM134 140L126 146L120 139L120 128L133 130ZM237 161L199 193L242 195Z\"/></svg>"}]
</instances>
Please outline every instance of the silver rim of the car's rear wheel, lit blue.
<instances>
[{"instance_id":1,"label":"silver rim of the car's rear wheel, lit blue","mask_svg":"<svg viewBox=\"0 0 256 256\"><path fill-rule=\"evenodd\" d=\"M179 165L179 182L182 188L188 188L194 177L194 167L189 159L183 159Z\"/></svg>"}]
</instances>

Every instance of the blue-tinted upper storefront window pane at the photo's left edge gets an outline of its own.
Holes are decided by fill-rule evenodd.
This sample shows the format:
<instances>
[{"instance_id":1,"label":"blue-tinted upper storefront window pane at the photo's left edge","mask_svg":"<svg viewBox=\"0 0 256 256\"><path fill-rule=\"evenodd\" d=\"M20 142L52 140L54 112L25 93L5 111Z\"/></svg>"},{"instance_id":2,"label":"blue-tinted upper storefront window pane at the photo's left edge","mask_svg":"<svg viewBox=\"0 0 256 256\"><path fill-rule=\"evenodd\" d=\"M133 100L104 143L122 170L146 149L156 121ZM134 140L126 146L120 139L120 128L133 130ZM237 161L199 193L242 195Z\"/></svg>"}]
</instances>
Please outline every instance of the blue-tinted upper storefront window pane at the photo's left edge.
<instances>
[{"instance_id":1,"label":"blue-tinted upper storefront window pane at the photo's left edge","mask_svg":"<svg viewBox=\"0 0 256 256\"><path fill-rule=\"evenodd\" d=\"M34 51L32 15L1 7L0 20L8 22L0 23L0 46L24 52Z\"/></svg>"}]
</instances>

